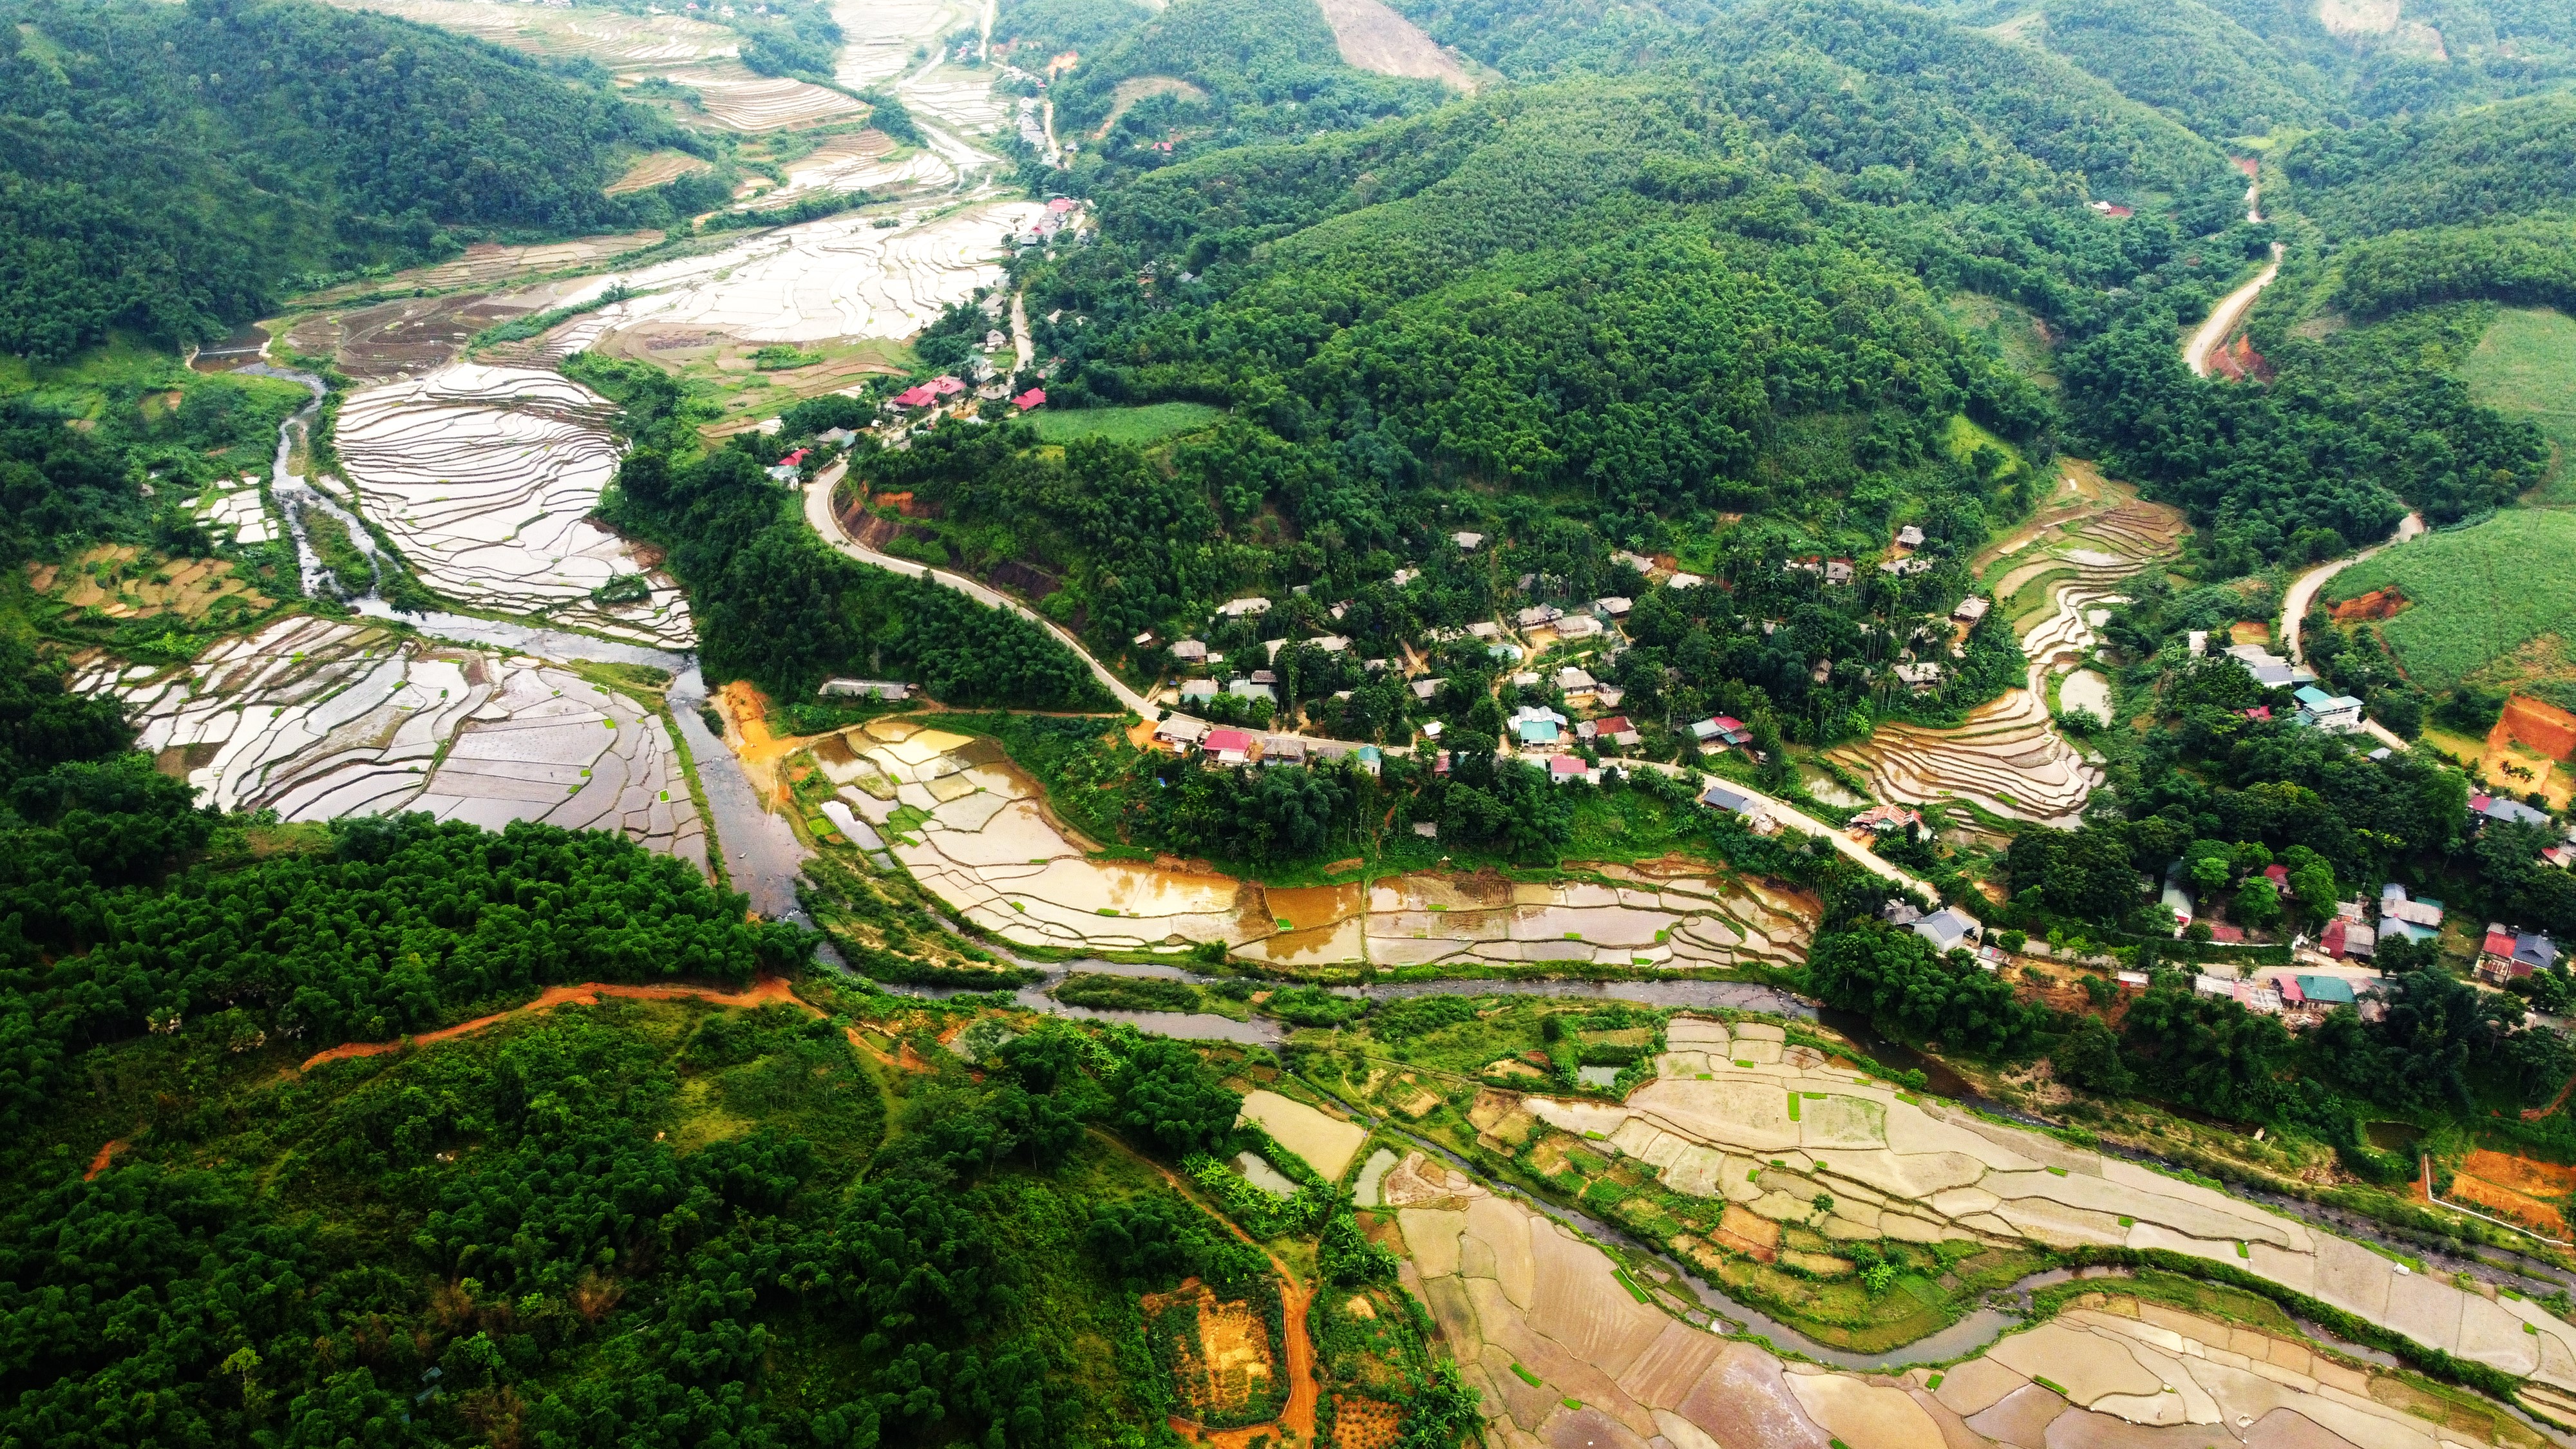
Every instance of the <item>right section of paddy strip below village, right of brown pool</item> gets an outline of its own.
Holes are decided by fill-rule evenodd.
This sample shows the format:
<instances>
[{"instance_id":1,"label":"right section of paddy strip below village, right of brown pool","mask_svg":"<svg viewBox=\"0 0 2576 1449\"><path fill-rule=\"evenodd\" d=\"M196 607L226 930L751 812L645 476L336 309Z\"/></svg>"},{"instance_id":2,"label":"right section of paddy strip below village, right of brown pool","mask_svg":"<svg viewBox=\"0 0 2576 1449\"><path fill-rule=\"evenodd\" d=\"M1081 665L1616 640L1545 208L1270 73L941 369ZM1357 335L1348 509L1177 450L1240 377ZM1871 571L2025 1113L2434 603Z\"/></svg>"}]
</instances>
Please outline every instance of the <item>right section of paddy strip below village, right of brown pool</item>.
<instances>
[{"instance_id":1,"label":"right section of paddy strip below village, right of brown pool","mask_svg":"<svg viewBox=\"0 0 2576 1449\"><path fill-rule=\"evenodd\" d=\"M1808 923L1785 902L1713 874L1592 866L1615 884L1528 884L1406 874L1368 890L1368 959L1378 964L1610 967L1793 964Z\"/></svg>"}]
</instances>

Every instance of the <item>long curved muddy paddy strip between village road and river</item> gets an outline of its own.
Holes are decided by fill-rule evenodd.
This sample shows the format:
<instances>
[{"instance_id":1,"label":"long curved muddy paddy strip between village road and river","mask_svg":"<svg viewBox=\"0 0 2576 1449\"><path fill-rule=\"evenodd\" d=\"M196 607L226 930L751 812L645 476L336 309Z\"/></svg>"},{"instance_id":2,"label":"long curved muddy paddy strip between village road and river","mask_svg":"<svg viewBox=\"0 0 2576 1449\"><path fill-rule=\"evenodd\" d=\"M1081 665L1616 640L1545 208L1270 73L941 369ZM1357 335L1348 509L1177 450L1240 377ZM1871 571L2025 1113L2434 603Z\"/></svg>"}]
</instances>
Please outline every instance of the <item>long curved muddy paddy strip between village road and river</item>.
<instances>
[{"instance_id":1,"label":"long curved muddy paddy strip between village road and river","mask_svg":"<svg viewBox=\"0 0 2576 1449\"><path fill-rule=\"evenodd\" d=\"M788 750L829 786L811 807L817 841L902 866L956 920L1023 951L1180 962L1218 944L1311 980L1363 967L1600 975L1790 967L1814 931L1814 902L1680 859L1571 866L1553 882L1404 871L1306 887L1108 859L999 743L938 717L873 719Z\"/></svg>"}]
</instances>

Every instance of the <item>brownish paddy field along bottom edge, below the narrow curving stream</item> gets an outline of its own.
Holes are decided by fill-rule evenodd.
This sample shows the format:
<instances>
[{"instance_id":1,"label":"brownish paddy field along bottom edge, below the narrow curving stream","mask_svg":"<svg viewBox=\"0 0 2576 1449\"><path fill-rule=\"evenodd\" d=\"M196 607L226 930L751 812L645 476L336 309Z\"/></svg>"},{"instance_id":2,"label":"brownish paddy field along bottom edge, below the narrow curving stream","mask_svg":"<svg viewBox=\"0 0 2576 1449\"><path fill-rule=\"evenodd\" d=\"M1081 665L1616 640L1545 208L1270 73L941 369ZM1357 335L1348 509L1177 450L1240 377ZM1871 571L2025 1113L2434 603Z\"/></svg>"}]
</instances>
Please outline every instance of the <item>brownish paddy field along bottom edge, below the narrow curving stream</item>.
<instances>
[{"instance_id":1,"label":"brownish paddy field along bottom edge, below the narrow curving stream","mask_svg":"<svg viewBox=\"0 0 2576 1449\"><path fill-rule=\"evenodd\" d=\"M2429 1395L2287 1330L2110 1294L1940 1374L1793 1364L1698 1328L1677 1312L1680 1294L1646 1287L1654 1271L1623 1274L1546 1214L1419 1152L1388 1186L1414 1173L1445 1183L1396 1212L1404 1248L1461 1372L1484 1390L1486 1431L1512 1449L2115 1449L2164 1441L2143 1428L2184 1426L2200 1436L2182 1444L2264 1449L2434 1449L2437 1426L2445 1441L2532 1444L2501 1413L2483 1415L2483 1431L2468 1415L2442 1423Z\"/></svg>"}]
</instances>

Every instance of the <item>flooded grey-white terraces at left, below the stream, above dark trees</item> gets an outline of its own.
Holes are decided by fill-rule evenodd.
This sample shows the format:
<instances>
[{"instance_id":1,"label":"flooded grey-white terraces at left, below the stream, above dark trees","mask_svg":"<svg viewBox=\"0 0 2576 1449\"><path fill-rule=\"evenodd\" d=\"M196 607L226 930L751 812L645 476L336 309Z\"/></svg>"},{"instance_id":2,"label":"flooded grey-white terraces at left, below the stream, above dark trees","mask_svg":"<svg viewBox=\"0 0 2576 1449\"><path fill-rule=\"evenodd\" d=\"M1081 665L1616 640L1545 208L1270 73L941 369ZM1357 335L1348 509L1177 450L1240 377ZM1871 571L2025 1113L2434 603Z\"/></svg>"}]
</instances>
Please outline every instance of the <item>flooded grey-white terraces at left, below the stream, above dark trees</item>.
<instances>
[{"instance_id":1,"label":"flooded grey-white terraces at left, below the stream, above dark trees","mask_svg":"<svg viewBox=\"0 0 2576 1449\"><path fill-rule=\"evenodd\" d=\"M402 815L623 830L706 869L706 825L657 714L569 670L371 624L281 619L196 663L82 660L219 810Z\"/></svg>"}]
</instances>

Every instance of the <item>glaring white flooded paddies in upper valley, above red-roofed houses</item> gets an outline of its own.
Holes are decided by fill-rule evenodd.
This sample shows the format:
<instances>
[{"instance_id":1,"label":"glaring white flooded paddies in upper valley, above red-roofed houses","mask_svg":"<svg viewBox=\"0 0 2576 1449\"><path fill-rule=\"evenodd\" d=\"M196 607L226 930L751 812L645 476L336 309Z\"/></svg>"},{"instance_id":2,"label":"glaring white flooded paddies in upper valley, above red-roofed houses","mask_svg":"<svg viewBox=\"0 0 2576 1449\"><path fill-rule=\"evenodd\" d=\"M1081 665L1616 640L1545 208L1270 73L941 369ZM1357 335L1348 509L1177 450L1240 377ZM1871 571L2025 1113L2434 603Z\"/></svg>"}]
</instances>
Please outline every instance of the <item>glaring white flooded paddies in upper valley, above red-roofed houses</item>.
<instances>
[{"instance_id":1,"label":"glaring white flooded paddies in upper valley, above red-roofed houses","mask_svg":"<svg viewBox=\"0 0 2576 1449\"><path fill-rule=\"evenodd\" d=\"M657 322L703 327L744 343L822 343L832 338L909 338L953 302L1002 278L1010 235L1043 209L1036 201L979 201L940 217L904 214L896 227L835 217L762 232L721 253L600 276L564 302L611 286L644 291L574 317L546 335L549 356Z\"/></svg>"}]
</instances>

